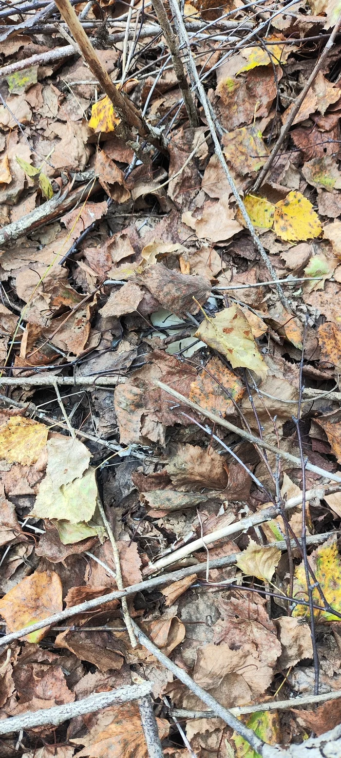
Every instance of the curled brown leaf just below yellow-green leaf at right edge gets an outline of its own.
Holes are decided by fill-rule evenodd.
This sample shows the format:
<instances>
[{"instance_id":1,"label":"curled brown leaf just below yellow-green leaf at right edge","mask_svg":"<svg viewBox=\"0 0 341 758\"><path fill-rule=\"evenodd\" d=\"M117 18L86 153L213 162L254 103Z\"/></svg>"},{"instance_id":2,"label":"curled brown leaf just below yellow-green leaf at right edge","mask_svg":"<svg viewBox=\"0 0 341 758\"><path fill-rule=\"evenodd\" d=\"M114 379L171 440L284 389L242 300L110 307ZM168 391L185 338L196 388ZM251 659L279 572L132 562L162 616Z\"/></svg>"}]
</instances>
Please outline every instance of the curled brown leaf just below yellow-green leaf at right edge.
<instances>
[{"instance_id":1,"label":"curled brown leaf just below yellow-green leaf at right edge","mask_svg":"<svg viewBox=\"0 0 341 758\"><path fill-rule=\"evenodd\" d=\"M274 619L277 626L278 639L282 645L282 653L278 659L279 669L289 669L296 666L302 658L312 658L311 631L308 624L302 624L293 616L281 616Z\"/></svg>"}]
</instances>

